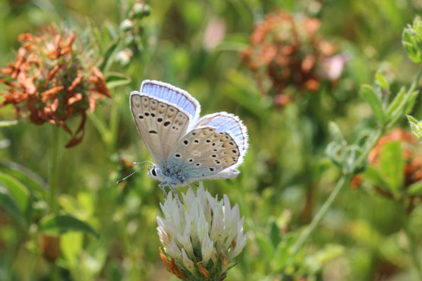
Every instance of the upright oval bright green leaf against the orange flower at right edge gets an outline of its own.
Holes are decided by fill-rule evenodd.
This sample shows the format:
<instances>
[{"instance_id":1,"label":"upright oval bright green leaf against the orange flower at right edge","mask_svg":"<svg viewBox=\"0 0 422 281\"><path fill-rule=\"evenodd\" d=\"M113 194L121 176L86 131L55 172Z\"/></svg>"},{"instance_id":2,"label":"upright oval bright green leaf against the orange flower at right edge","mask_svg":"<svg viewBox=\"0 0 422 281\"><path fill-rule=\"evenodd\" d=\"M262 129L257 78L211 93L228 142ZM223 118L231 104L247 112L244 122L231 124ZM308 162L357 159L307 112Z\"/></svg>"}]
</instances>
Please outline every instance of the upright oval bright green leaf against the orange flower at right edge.
<instances>
[{"instance_id":1,"label":"upright oval bright green leaf against the orange flower at right edge","mask_svg":"<svg viewBox=\"0 0 422 281\"><path fill-rule=\"evenodd\" d=\"M390 185L392 192L397 193L403 186L404 159L402 145L399 141L386 143L380 155L381 174Z\"/></svg>"}]
</instances>

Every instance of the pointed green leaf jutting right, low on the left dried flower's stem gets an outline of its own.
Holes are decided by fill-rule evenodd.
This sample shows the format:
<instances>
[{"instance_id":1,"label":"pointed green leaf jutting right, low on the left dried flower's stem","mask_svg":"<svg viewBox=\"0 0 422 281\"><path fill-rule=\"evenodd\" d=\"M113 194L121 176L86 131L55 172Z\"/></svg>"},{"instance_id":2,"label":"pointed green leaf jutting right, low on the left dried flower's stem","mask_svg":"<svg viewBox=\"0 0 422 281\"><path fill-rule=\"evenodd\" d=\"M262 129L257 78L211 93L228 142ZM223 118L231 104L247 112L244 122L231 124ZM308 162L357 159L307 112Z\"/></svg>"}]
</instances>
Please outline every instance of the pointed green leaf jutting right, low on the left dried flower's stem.
<instances>
[{"instance_id":1,"label":"pointed green leaf jutting right, low on the left dried flower's stem","mask_svg":"<svg viewBox=\"0 0 422 281\"><path fill-rule=\"evenodd\" d=\"M39 232L49 235L59 235L70 231L81 231L99 237L94 228L88 223L70 215L49 215L41 219Z\"/></svg>"}]
</instances>

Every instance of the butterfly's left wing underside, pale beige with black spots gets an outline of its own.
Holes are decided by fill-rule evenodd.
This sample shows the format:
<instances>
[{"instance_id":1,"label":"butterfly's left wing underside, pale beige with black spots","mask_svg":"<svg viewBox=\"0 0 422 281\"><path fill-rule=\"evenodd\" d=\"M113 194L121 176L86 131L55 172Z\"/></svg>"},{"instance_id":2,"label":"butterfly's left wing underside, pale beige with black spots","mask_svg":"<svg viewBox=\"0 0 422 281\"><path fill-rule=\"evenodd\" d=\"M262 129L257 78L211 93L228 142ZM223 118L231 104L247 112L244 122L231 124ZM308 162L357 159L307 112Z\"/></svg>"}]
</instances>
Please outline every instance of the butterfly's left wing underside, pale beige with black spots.
<instances>
[{"instance_id":1,"label":"butterfly's left wing underside, pale beige with black spots","mask_svg":"<svg viewBox=\"0 0 422 281\"><path fill-rule=\"evenodd\" d=\"M155 164L166 166L167 157L188 128L186 113L177 107L145 95L132 93L130 98L132 116Z\"/></svg>"}]
</instances>

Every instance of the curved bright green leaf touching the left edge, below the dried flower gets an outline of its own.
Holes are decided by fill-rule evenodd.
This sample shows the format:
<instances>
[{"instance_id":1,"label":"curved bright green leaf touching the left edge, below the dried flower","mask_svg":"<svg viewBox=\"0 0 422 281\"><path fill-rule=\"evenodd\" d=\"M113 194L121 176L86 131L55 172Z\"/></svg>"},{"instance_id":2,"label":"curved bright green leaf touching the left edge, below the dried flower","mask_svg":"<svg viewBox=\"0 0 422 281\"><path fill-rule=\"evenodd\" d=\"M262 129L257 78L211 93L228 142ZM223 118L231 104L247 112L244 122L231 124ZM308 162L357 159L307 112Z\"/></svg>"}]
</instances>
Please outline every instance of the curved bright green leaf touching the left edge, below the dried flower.
<instances>
[{"instance_id":1,"label":"curved bright green leaf touching the left edge, below the dried flower","mask_svg":"<svg viewBox=\"0 0 422 281\"><path fill-rule=\"evenodd\" d=\"M4 183L9 193L13 196L15 202L18 204L20 211L25 214L28 223L32 219L32 202L30 192L17 179L8 174L0 173L0 181Z\"/></svg>"}]
</instances>

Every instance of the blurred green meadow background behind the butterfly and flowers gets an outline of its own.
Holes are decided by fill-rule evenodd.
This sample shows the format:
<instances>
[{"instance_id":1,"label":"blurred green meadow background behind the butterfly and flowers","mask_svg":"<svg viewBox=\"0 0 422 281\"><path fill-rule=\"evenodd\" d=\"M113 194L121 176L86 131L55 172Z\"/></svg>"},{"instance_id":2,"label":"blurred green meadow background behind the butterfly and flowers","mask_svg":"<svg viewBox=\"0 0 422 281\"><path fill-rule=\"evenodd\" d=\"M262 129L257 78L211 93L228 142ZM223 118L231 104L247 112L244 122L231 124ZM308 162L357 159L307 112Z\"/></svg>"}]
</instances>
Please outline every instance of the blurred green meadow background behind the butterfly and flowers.
<instances>
[{"instance_id":1,"label":"blurred green meadow background behind the butterfly and flowers","mask_svg":"<svg viewBox=\"0 0 422 281\"><path fill-rule=\"evenodd\" d=\"M101 37L94 41L104 55L122 34L119 26L134 3L0 0L0 66L15 59L18 34L37 33L51 22L79 32L88 26L96 29ZM375 124L371 108L359 96L360 85L371 84L378 69L394 91L411 83L416 65L402 48L402 30L421 12L422 1L168 0L147 4L151 15L139 21L136 34L123 35L138 40L131 49L133 56L110 64L110 70L131 81L110 89L112 99L101 100L88 118L81 144L64 148L69 136L59 130L59 209L87 221L100 238L65 233L60 236L57 259L46 259L37 223L48 214L49 206L34 192L32 222L26 229L0 211L0 280L54 280L57 276L59 280L176 280L165 271L158 252L155 219L162 202L158 182L141 171L115 184L134 170L127 163L151 159L129 111L129 93L138 90L143 79L186 89L199 100L202 115L232 112L248 126L250 149L241 174L204 183L212 195L225 193L239 204L245 231L250 233L226 280L415 280L397 204L365 188L343 190L295 266L283 268L283 261L286 247L312 219L340 173L324 152L330 141L328 122L337 122L346 138L357 138ZM260 91L256 73L242 62L240 53L250 44L255 25L281 9L298 17L318 18L319 36L333 44L335 54L347 53L348 60L341 77L335 83L321 79L318 91L288 85L294 100L280 108L274 106L273 96ZM222 36L212 41L216 37L207 34L207 28L216 21ZM123 45L118 46L120 51ZM421 113L417 101L413 115ZM0 108L0 120L13 119L13 107ZM70 124L77 126L77 120ZM101 131L101 124L106 130ZM404 120L401 124L407 127ZM48 155L55 129L25 119L0 128L1 172L14 175L24 185L42 186L49 179ZM13 165L43 180L13 172ZM409 220L419 250L421 206L416 204Z\"/></svg>"}]
</instances>

